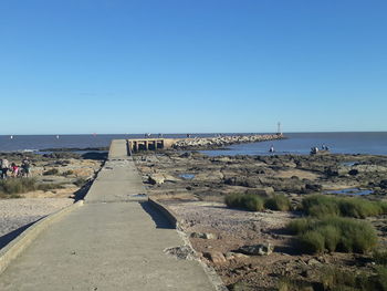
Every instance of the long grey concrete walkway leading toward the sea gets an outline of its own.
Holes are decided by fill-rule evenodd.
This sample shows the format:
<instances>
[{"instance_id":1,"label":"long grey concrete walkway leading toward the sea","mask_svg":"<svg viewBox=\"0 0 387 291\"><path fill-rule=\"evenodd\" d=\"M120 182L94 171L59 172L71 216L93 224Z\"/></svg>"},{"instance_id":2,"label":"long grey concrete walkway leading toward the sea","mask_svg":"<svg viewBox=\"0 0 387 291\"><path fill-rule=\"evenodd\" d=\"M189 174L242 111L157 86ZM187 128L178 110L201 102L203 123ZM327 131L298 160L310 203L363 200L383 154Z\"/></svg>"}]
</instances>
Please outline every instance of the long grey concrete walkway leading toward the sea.
<instances>
[{"instance_id":1,"label":"long grey concrete walkway leading toward the sea","mask_svg":"<svg viewBox=\"0 0 387 291\"><path fill-rule=\"evenodd\" d=\"M184 242L138 196L124 143L112 143L85 205L38 237L0 276L0 290L215 290L197 261L164 252Z\"/></svg>"}]
</instances>

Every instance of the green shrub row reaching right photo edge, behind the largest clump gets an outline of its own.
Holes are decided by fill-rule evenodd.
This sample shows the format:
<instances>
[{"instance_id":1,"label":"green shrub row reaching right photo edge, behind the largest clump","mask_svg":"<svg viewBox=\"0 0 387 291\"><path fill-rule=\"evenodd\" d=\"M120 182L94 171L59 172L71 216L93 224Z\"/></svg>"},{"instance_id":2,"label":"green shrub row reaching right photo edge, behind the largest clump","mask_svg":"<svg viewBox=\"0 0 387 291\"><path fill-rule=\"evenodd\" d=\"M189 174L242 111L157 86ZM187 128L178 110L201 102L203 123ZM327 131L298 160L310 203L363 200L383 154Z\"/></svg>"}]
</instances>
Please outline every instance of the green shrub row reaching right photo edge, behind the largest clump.
<instances>
[{"instance_id":1,"label":"green shrub row reaching right photo edge, behind the largest clump","mask_svg":"<svg viewBox=\"0 0 387 291\"><path fill-rule=\"evenodd\" d=\"M342 216L366 218L387 214L387 204L369 201L363 198L313 195L303 199L302 209L306 215L313 217Z\"/></svg>"}]
</instances>

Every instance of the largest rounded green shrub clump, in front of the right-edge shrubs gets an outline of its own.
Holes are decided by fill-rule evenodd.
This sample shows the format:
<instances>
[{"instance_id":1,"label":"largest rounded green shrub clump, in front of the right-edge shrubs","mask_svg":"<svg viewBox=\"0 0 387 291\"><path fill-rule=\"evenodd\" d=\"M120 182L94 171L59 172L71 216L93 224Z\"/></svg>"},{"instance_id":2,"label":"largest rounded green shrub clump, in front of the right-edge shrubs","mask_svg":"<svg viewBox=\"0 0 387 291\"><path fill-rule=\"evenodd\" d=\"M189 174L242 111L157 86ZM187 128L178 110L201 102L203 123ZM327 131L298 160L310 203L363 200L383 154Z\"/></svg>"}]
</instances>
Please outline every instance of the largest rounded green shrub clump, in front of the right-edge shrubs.
<instances>
[{"instance_id":1,"label":"largest rounded green shrub clump, in front of the right-edge shrubs","mask_svg":"<svg viewBox=\"0 0 387 291\"><path fill-rule=\"evenodd\" d=\"M297 235L300 248L308 253L367 252L377 243L376 231L368 222L351 218L295 219L287 229Z\"/></svg>"}]
</instances>

